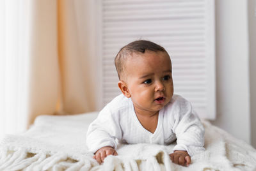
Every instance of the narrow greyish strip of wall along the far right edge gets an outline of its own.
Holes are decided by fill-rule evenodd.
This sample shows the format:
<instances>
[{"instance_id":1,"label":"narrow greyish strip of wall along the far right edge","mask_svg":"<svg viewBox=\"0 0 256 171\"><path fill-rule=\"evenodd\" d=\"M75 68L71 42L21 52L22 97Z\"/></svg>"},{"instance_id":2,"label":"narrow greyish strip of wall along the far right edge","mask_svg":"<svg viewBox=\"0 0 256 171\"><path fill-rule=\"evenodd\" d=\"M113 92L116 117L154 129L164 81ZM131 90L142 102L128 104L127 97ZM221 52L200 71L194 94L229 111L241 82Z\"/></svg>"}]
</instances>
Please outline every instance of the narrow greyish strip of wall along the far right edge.
<instances>
[{"instance_id":1,"label":"narrow greyish strip of wall along the far right edge","mask_svg":"<svg viewBox=\"0 0 256 171\"><path fill-rule=\"evenodd\" d=\"M249 42L250 42L250 100L251 136L256 148L256 1L248 1Z\"/></svg>"}]
</instances>

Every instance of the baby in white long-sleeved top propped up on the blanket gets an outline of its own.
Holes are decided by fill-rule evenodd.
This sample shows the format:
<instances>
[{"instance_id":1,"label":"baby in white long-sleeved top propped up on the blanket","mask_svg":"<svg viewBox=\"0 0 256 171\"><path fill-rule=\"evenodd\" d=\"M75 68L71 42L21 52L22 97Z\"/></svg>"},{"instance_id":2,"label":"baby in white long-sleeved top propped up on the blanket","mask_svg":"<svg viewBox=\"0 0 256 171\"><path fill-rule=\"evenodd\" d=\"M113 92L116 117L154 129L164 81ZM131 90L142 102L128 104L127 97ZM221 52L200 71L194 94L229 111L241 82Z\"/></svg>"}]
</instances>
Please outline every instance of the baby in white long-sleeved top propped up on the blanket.
<instances>
[{"instance_id":1,"label":"baby in white long-sleeved top propped up on the blanket","mask_svg":"<svg viewBox=\"0 0 256 171\"><path fill-rule=\"evenodd\" d=\"M191 103L173 94L172 62L163 47L146 40L125 45L115 57L122 94L90 124L86 143L99 163L117 155L118 142L168 145L170 160L188 166L204 151L204 127Z\"/></svg>"}]
</instances>

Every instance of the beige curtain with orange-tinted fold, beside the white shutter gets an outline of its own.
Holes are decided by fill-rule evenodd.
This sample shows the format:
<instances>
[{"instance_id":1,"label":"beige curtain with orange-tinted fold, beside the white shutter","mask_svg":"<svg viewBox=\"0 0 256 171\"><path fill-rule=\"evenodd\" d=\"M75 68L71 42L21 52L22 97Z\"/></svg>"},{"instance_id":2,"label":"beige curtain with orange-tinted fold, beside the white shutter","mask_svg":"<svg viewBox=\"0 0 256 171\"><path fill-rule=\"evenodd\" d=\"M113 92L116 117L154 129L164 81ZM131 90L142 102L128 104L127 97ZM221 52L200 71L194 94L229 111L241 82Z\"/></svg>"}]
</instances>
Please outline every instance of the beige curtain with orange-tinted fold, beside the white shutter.
<instances>
[{"instance_id":1,"label":"beige curtain with orange-tinted fold, beside the white shutter","mask_svg":"<svg viewBox=\"0 0 256 171\"><path fill-rule=\"evenodd\" d=\"M95 110L93 1L28 1L29 115Z\"/></svg>"}]
</instances>

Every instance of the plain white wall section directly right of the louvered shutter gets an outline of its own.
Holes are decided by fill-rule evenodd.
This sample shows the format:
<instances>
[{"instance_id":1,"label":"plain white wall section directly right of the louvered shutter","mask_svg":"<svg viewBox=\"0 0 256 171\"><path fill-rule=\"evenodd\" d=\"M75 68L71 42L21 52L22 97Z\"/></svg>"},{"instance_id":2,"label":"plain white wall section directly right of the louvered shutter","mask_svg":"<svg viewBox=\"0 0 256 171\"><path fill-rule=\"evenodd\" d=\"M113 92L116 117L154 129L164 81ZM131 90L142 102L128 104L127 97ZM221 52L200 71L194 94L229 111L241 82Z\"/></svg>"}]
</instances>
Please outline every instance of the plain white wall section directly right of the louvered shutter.
<instances>
[{"instance_id":1,"label":"plain white wall section directly right of the louvered shutter","mask_svg":"<svg viewBox=\"0 0 256 171\"><path fill-rule=\"evenodd\" d=\"M247 1L216 0L216 107L212 123L250 143Z\"/></svg>"}]
</instances>

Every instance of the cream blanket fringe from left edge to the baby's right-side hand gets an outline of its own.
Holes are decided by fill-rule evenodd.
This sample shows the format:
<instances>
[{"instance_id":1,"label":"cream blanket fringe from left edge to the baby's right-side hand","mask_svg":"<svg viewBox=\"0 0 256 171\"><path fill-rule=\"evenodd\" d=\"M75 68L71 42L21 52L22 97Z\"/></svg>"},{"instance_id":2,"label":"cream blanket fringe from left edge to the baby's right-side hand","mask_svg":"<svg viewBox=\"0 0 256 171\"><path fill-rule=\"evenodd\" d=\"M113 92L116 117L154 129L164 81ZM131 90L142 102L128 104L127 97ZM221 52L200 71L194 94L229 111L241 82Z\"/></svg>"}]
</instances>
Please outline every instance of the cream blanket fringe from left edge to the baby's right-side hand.
<instances>
[{"instance_id":1,"label":"cream blanket fringe from left edge to the baby's right-side hand","mask_svg":"<svg viewBox=\"0 0 256 171\"><path fill-rule=\"evenodd\" d=\"M149 171L170 170L169 156L164 151L160 151L156 156L150 156L145 160L108 156L106 162L103 165L99 165L96 160L93 160L92 156L81 156L79 159L74 159L60 152L49 154L44 151L38 151L35 154L28 149L22 148L4 147L0 149L0 170L139 171L141 167Z\"/></svg>"}]
</instances>

